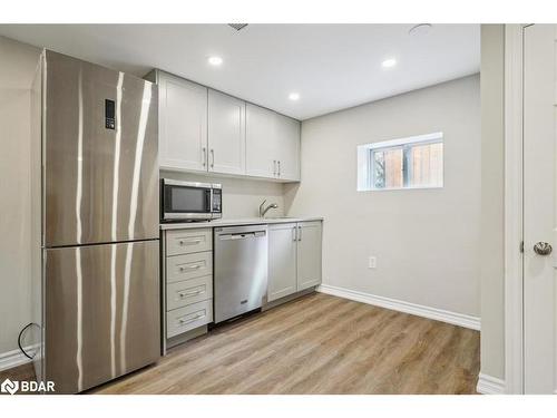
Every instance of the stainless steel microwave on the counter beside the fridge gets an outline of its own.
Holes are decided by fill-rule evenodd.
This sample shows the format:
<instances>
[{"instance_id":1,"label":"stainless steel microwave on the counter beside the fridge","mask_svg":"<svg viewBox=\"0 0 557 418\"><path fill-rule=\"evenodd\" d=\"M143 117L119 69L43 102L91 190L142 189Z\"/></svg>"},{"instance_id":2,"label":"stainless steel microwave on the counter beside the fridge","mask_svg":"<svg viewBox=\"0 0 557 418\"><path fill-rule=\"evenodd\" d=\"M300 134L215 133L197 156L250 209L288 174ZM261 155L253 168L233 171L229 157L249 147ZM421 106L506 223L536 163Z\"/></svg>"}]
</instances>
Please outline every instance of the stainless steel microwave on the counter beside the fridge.
<instances>
[{"instance_id":1,"label":"stainless steel microwave on the counter beside the fridge","mask_svg":"<svg viewBox=\"0 0 557 418\"><path fill-rule=\"evenodd\" d=\"M223 189L219 184L160 179L163 222L206 221L223 216Z\"/></svg>"}]
</instances>

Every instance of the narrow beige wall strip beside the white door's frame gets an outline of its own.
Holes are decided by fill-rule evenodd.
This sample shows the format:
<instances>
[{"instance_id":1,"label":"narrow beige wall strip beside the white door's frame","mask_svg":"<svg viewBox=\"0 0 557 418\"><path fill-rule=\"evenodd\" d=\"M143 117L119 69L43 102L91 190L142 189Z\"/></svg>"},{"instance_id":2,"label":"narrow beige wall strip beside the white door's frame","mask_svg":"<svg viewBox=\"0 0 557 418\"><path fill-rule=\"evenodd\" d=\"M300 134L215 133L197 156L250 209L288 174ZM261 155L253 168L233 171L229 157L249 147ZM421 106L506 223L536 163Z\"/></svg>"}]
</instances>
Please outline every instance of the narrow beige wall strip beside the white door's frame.
<instances>
[{"instance_id":1,"label":"narrow beige wall strip beside the white door's frame","mask_svg":"<svg viewBox=\"0 0 557 418\"><path fill-rule=\"evenodd\" d=\"M505 26L481 26L481 372L505 379Z\"/></svg>"}]
</instances>

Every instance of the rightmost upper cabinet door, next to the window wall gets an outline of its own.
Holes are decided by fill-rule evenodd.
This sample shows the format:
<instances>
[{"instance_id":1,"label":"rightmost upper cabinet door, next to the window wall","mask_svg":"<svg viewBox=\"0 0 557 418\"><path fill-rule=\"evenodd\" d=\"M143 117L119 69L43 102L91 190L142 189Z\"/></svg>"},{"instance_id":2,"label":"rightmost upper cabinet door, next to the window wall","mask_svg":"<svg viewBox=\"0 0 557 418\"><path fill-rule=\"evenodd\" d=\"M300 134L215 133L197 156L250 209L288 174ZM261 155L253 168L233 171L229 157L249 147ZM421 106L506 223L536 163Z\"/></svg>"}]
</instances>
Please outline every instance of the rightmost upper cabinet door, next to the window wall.
<instances>
[{"instance_id":1,"label":"rightmost upper cabinet door, next to the window wall","mask_svg":"<svg viewBox=\"0 0 557 418\"><path fill-rule=\"evenodd\" d=\"M277 116L278 168L283 179L300 179L300 121Z\"/></svg>"}]
</instances>

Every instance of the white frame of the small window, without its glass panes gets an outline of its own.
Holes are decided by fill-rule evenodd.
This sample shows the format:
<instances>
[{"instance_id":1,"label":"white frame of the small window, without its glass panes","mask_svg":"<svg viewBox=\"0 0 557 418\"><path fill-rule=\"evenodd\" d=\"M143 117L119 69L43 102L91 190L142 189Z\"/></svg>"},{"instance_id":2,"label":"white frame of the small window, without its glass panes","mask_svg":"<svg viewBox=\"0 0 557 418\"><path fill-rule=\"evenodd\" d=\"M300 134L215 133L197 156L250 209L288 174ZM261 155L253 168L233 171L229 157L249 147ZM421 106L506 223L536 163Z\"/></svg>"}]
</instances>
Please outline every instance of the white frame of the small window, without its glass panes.
<instances>
[{"instance_id":1,"label":"white frame of the small window, without its glass panes","mask_svg":"<svg viewBox=\"0 0 557 418\"><path fill-rule=\"evenodd\" d=\"M409 164L409 152L414 146L429 144L442 144L442 175L440 185L417 185L408 186L411 164ZM375 154L378 152L402 150L402 187L375 187ZM362 144L358 146L358 192L387 192L420 188L443 188L444 187L444 137L442 132L426 135L416 135L405 138L383 140L379 143ZM410 167L410 169L404 169ZM362 173L364 172L364 173Z\"/></svg>"}]
</instances>

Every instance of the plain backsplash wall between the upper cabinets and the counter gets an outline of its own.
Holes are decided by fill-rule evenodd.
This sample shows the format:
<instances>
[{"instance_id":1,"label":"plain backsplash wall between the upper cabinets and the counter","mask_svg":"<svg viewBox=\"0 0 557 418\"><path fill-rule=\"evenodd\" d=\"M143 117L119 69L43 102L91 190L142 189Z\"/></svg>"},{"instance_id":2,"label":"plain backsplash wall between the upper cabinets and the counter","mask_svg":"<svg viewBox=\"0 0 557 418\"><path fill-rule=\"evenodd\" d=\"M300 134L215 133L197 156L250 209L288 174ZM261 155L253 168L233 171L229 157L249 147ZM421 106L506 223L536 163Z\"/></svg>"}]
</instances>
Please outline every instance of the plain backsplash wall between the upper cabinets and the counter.
<instances>
[{"instance_id":1,"label":"plain backsplash wall between the upper cabinets and the counter","mask_svg":"<svg viewBox=\"0 0 557 418\"><path fill-rule=\"evenodd\" d=\"M190 173L160 171L160 178L187 182L221 183L223 185L223 218L256 217L263 200L276 203L267 216L284 215L284 186L258 179L204 176Z\"/></svg>"}]
</instances>

